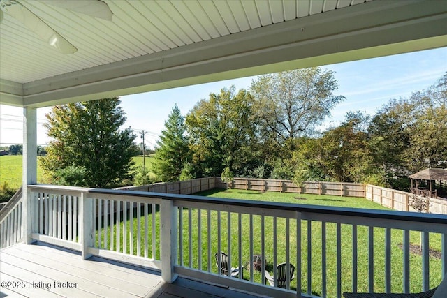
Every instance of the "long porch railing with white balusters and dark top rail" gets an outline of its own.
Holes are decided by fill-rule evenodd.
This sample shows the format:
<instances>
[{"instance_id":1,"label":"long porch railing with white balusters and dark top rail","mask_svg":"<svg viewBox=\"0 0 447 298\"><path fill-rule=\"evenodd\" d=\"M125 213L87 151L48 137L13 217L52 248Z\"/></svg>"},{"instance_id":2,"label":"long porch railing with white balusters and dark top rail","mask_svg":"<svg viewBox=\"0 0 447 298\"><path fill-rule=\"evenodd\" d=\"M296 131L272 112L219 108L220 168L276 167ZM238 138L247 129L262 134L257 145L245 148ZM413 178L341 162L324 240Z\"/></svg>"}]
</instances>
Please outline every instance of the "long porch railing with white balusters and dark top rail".
<instances>
[{"instance_id":1,"label":"long porch railing with white balusters and dark top rail","mask_svg":"<svg viewBox=\"0 0 447 298\"><path fill-rule=\"evenodd\" d=\"M100 255L161 269L168 282L179 274L274 297L300 297L296 289L303 297L341 297L344 291L420 292L447 274L445 215L29 189L33 239L77 249L83 258ZM420 255L412 255L420 241ZM228 255L228 267L242 268L237 278L218 274L218 251ZM260 271L254 269L255 255L263 256ZM265 285L264 271L275 276L282 262L295 267L295 278L285 289Z\"/></svg>"}]
</instances>

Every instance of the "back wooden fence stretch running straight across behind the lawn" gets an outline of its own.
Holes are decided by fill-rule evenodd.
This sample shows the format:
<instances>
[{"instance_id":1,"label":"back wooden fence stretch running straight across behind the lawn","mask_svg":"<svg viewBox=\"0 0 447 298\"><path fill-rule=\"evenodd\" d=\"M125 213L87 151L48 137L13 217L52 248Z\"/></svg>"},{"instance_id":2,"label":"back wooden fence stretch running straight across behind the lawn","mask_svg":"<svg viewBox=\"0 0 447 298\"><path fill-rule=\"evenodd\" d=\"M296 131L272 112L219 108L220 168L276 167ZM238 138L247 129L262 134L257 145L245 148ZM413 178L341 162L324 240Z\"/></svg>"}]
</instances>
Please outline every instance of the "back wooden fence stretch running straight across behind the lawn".
<instances>
[{"instance_id":1,"label":"back wooden fence stretch running straight across behind the lawn","mask_svg":"<svg viewBox=\"0 0 447 298\"><path fill-rule=\"evenodd\" d=\"M220 180L219 178L217 178ZM223 184L225 185L225 184ZM251 191L278 191L281 193L311 193L365 198L365 184L305 181L302 187L291 180L234 178L231 188Z\"/></svg>"}]
</instances>

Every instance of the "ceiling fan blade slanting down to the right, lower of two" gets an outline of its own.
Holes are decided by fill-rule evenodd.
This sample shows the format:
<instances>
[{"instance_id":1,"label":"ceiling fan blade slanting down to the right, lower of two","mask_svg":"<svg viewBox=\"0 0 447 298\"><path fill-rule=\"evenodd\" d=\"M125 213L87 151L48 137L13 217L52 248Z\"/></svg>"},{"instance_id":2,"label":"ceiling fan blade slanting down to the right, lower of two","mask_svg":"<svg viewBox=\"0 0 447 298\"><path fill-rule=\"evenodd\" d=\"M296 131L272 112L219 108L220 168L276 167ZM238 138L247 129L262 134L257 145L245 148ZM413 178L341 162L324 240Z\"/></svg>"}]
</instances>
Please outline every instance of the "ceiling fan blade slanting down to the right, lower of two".
<instances>
[{"instance_id":1,"label":"ceiling fan blade slanting down to the right, lower of two","mask_svg":"<svg viewBox=\"0 0 447 298\"><path fill-rule=\"evenodd\" d=\"M41 40L55 47L59 52L64 54L73 54L78 49L63 38L59 33L54 31L50 26L45 24L37 15L31 13L31 10L22 6L14 0L1 1L1 9L14 17L16 20L24 24L27 29L37 34Z\"/></svg>"}]
</instances>

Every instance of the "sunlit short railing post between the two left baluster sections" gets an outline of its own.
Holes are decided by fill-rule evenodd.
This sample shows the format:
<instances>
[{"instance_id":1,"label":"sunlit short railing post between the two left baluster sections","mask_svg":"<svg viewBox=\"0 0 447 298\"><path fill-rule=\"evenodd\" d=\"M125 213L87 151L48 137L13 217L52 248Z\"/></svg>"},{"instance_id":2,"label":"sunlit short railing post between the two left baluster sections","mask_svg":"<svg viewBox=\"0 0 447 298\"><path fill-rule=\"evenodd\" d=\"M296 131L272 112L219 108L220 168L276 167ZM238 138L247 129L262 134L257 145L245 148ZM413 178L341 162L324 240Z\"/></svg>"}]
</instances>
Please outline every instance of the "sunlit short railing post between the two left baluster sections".
<instances>
[{"instance_id":1,"label":"sunlit short railing post between the two left baluster sections","mask_svg":"<svg viewBox=\"0 0 447 298\"><path fill-rule=\"evenodd\" d=\"M91 254L88 253L89 246L93 246L93 199L87 198L86 193L81 193L79 204L81 257L82 260L87 260L91 257Z\"/></svg>"}]
</instances>

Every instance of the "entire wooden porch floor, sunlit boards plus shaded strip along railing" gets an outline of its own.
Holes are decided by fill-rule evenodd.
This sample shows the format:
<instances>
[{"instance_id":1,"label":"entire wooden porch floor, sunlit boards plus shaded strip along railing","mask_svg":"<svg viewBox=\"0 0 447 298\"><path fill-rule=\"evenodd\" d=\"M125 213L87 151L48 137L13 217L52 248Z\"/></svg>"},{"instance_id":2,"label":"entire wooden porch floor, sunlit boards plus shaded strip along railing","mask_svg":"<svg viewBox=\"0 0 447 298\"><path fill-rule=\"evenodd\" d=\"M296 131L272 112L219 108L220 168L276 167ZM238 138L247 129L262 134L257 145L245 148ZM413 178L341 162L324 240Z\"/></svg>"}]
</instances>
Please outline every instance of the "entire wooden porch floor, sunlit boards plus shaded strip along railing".
<instances>
[{"instance_id":1,"label":"entire wooden porch floor, sunlit boards plus shaded strip along railing","mask_svg":"<svg viewBox=\"0 0 447 298\"><path fill-rule=\"evenodd\" d=\"M0 297L257 297L187 278L163 283L150 269L47 245L17 244L0 251Z\"/></svg>"}]
</instances>

